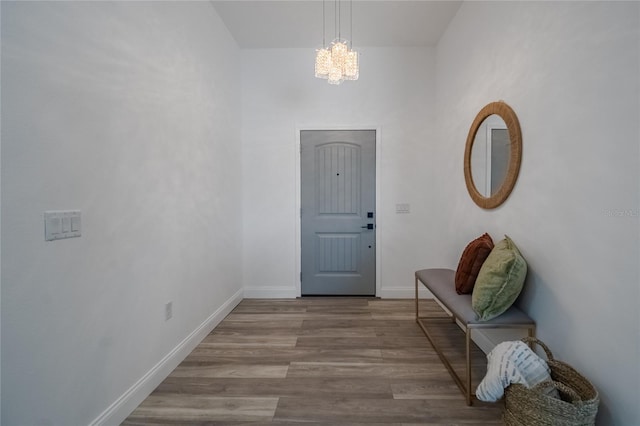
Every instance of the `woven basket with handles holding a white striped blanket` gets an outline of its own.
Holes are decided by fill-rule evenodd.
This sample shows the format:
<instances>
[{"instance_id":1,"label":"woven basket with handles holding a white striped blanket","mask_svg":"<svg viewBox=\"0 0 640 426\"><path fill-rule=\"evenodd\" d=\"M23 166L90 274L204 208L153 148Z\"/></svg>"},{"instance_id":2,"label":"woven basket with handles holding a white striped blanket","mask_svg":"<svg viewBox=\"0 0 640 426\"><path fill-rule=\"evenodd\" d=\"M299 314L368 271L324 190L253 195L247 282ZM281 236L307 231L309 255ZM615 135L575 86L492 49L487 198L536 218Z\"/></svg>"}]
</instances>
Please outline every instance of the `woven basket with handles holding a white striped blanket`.
<instances>
[{"instance_id":1,"label":"woven basket with handles holding a white striped blanket","mask_svg":"<svg viewBox=\"0 0 640 426\"><path fill-rule=\"evenodd\" d=\"M549 348L533 337L523 342L536 343L544 349L551 369L550 381L527 388L512 384L505 390L504 423L506 426L593 426L600 397L595 387L569 364L553 358ZM544 391L555 387L560 399Z\"/></svg>"}]
</instances>

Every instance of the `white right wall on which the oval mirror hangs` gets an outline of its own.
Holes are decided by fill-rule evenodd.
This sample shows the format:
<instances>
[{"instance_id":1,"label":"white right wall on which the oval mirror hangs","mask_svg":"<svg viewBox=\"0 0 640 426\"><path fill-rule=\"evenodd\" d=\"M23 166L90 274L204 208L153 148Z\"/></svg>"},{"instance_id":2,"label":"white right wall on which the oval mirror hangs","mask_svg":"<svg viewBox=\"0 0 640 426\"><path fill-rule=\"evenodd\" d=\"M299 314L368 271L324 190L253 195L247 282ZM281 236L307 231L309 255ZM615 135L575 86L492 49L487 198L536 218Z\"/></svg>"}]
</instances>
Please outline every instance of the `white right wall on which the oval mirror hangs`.
<instances>
[{"instance_id":1,"label":"white right wall on which the oval mirror hangs","mask_svg":"<svg viewBox=\"0 0 640 426\"><path fill-rule=\"evenodd\" d=\"M468 2L437 48L444 209L434 241L511 236L529 264L520 305L558 359L600 391L601 425L638 425L639 15L637 2ZM504 100L522 126L514 192L476 207L463 177L476 113Z\"/></svg>"}]
</instances>

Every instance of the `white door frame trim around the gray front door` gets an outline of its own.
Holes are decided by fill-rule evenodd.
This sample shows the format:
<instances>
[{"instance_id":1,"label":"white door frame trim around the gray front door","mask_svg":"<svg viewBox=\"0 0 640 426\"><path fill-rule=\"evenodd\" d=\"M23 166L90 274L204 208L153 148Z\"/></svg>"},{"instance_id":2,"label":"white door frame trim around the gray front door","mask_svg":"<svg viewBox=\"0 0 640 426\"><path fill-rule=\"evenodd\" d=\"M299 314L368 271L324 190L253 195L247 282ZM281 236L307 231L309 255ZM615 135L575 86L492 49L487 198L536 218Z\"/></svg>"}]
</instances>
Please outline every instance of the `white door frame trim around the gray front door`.
<instances>
[{"instance_id":1,"label":"white door frame trim around the gray front door","mask_svg":"<svg viewBox=\"0 0 640 426\"><path fill-rule=\"evenodd\" d=\"M303 130L374 130L376 132L376 296L380 294L380 126L329 126L323 125L296 125L295 132L295 176L296 176L296 204L294 212L295 236L296 236L296 267L294 282L296 283L296 297L302 295L302 282L300 274L302 272L302 221L300 218L300 209L302 208L302 182L300 176L300 132ZM384 229L384 228L382 228Z\"/></svg>"}]
</instances>

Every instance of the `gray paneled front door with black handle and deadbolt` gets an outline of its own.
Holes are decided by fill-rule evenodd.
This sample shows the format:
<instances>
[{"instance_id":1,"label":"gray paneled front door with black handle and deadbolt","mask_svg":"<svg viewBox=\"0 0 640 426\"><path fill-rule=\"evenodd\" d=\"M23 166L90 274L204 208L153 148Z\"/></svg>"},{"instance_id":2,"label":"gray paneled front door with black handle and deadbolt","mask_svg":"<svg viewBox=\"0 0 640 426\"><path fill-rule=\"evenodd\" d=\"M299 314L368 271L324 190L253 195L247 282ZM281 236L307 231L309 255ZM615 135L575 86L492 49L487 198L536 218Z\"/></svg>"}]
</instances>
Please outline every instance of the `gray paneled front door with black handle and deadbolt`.
<instances>
[{"instance_id":1,"label":"gray paneled front door with black handle and deadbolt","mask_svg":"<svg viewBox=\"0 0 640 426\"><path fill-rule=\"evenodd\" d=\"M303 296L376 292L375 130L300 132Z\"/></svg>"}]
</instances>

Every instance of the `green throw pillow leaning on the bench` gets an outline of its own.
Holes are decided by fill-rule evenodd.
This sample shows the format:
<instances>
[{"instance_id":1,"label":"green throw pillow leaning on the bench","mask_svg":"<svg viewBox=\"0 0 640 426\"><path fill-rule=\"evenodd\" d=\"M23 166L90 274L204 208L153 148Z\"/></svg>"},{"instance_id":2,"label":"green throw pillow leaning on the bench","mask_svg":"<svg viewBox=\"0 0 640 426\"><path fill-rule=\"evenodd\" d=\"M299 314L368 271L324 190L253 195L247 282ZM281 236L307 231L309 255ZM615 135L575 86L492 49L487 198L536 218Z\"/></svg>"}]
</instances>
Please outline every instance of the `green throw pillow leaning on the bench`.
<instances>
[{"instance_id":1,"label":"green throw pillow leaning on the bench","mask_svg":"<svg viewBox=\"0 0 640 426\"><path fill-rule=\"evenodd\" d=\"M482 264L471 295L471 306L482 321L505 312L516 301L527 275L527 262L511 238L495 245Z\"/></svg>"}]
</instances>

